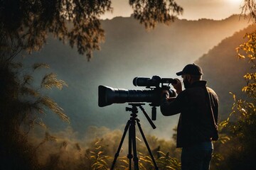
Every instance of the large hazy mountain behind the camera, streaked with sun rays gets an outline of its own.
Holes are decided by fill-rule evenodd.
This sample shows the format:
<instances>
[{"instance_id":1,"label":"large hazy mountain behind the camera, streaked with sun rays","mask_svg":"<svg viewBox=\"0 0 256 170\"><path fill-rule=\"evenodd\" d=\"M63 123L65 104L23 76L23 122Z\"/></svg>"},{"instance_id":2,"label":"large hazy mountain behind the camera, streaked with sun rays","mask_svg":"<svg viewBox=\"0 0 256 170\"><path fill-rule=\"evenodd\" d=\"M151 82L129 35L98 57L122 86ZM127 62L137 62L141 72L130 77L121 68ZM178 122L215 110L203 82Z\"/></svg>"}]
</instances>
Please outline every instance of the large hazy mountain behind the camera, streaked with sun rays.
<instances>
[{"instance_id":1,"label":"large hazy mountain behind the camera, streaked with sun rays","mask_svg":"<svg viewBox=\"0 0 256 170\"><path fill-rule=\"evenodd\" d=\"M112 104L104 108L97 106L99 85L149 90L133 86L134 77L159 75L175 78L175 73L186 64L198 60L221 40L248 25L247 20L239 21L239 16L230 16L222 21L176 20L171 26L159 24L154 30L145 30L132 17L117 17L102 21L106 40L102 43L101 50L94 52L90 62L78 55L76 49L50 37L43 50L34 52L23 61L27 65L35 62L48 63L51 67L48 72L55 72L59 79L67 82L68 88L50 91L48 95L63 107L70 117L73 130L84 137L89 126L122 129L129 119L129 113L125 111L127 103ZM35 81L38 82L39 77L45 73L35 73L38 79ZM212 77L209 77L209 85L214 85L215 89L215 81L210 81L210 78ZM151 113L149 106L145 106L145 110ZM157 120L154 122L157 128L152 131L141 112L139 118L145 133L152 132L158 137L171 137L172 129L178 121L178 115L165 118L157 109ZM68 126L53 114L48 114L43 119L56 132Z\"/></svg>"}]
</instances>

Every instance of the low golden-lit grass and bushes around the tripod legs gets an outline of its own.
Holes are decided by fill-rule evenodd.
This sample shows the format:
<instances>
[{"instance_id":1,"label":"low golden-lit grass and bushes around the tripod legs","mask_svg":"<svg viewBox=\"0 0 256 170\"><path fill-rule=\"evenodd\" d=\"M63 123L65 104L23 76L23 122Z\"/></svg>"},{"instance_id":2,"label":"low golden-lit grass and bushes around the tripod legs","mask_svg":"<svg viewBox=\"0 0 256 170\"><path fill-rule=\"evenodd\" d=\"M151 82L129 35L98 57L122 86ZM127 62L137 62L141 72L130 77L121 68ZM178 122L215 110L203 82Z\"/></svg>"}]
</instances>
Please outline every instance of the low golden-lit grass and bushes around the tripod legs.
<instances>
[{"instance_id":1,"label":"low golden-lit grass and bushes around the tripod legs","mask_svg":"<svg viewBox=\"0 0 256 170\"><path fill-rule=\"evenodd\" d=\"M113 132L112 132L113 133ZM117 135L117 134L115 134ZM96 138L92 141L91 145L82 147L80 144L72 144L70 142L61 142L58 138L52 137L46 134L46 137L39 143L41 149L49 147L48 143L53 142L55 148L59 148L47 155L47 161L45 164L41 164L42 169L110 169L113 162L114 153L110 150L112 145L108 145L109 137ZM157 142L160 144L159 142ZM138 143L141 145L140 143ZM146 154L147 150L144 147L139 146L138 154L139 169L150 170L154 169L154 164ZM114 148L116 149L116 148ZM156 158L156 164L161 170L165 169L181 169L181 163L178 158L171 157L171 153L158 150L154 154ZM122 154L122 153L120 153ZM79 156L78 156L79 155ZM123 155L123 154L122 154ZM120 156L114 166L114 169L129 169L129 159L127 156ZM131 160L132 167L134 166L133 160Z\"/></svg>"}]
</instances>

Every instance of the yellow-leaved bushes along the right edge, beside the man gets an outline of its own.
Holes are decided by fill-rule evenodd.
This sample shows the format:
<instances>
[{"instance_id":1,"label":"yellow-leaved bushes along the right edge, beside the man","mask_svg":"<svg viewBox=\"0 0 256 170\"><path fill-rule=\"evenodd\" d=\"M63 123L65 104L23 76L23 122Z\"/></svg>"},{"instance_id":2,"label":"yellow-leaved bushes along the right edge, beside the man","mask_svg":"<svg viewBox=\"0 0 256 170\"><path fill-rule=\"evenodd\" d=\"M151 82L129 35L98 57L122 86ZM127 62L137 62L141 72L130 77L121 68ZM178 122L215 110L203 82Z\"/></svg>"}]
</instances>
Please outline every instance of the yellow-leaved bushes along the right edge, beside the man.
<instances>
[{"instance_id":1,"label":"yellow-leaved bushes along the right edge, beside the man","mask_svg":"<svg viewBox=\"0 0 256 170\"><path fill-rule=\"evenodd\" d=\"M252 64L251 69L255 71L256 57L256 32L245 35L247 42L236 50L238 57L247 59ZM228 152L223 152L225 161L218 164L220 169L255 169L255 128L256 128L256 96L255 96L255 72L245 74L247 85L242 88L247 94L247 99L237 99L235 94L230 117L223 121L223 129L228 132L229 137L225 141ZM231 120L231 118L233 118Z\"/></svg>"}]
</instances>

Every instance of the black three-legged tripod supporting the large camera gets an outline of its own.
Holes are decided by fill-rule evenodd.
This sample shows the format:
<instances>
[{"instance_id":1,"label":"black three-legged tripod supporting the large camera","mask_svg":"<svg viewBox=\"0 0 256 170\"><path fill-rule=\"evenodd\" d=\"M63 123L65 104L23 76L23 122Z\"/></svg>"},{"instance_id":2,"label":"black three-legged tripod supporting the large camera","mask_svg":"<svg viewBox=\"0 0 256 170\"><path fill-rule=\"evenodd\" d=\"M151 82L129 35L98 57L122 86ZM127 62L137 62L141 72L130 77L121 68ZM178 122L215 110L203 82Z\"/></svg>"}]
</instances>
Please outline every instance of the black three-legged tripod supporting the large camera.
<instances>
[{"instance_id":1,"label":"black three-legged tripod supporting the large camera","mask_svg":"<svg viewBox=\"0 0 256 170\"><path fill-rule=\"evenodd\" d=\"M156 126L154 125L154 123L149 118L149 115L146 114L146 111L144 111L144 108L142 107L142 105L144 105L144 103L129 103L129 105L131 105L132 108L127 107L126 111L132 111L131 118L129 118L129 120L127 121L127 125L124 128L124 133L122 135L122 139L121 139L119 147L117 149L117 153L114 155L114 161L112 163L111 170L114 169L114 164L117 162L117 157L119 156L119 152L120 152L120 149L122 147L122 143L124 142L124 138L125 138L125 135L126 135L128 129L129 129L129 140L128 140L129 145L128 145L127 158L129 159L129 170L132 169L132 159L134 161L134 170L139 170L139 159L137 157L136 133L135 133L136 123L138 125L139 132L141 133L141 135L143 137L146 148L148 149L150 157L151 157L151 159L154 163L154 167L155 167L156 170L158 170L158 167L157 167L156 162L154 160L154 156L151 152L151 149L149 148L149 144L146 141L146 137L145 137L144 132L142 131L142 127L139 123L139 118L137 118L137 113L138 113L137 107L138 106L142 110L144 115L146 116L147 120L149 120L149 123L151 124L152 128L156 128ZM133 152L134 155L132 155L132 152Z\"/></svg>"}]
</instances>

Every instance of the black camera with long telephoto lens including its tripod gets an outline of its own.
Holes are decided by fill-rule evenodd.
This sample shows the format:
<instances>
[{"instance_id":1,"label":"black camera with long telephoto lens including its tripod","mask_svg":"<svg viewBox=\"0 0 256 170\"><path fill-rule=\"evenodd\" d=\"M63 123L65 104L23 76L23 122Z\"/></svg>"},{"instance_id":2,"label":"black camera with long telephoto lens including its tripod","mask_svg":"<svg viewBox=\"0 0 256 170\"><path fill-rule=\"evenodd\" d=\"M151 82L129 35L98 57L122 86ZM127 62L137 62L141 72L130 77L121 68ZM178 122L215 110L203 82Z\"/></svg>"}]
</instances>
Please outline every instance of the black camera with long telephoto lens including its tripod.
<instances>
[{"instance_id":1,"label":"black camera with long telephoto lens including its tripod","mask_svg":"<svg viewBox=\"0 0 256 170\"><path fill-rule=\"evenodd\" d=\"M158 169L156 162L154 160L154 156L149 148L149 144L146 141L146 137L144 132L142 131L142 127L139 123L139 118L137 118L138 108L142 110L142 113L146 116L146 119L149 121L151 127L153 129L156 128L152 120L156 120L156 106L160 106L161 104L161 94L163 90L169 91L169 96L176 96L175 92L170 89L169 84L176 84L176 79L161 79L159 76L154 76L151 79L146 77L135 77L133 79L134 86L145 86L148 90L127 90L127 89L113 89L109 86L99 86L99 101L98 105L100 107L109 106L112 103L126 103L130 102L129 105L132 108L126 108L126 111L131 111L131 118L127 121L127 124L124 128L124 134L122 135L122 139L120 141L119 147L117 149L117 153L114 155L114 161L112 163L111 169L114 169L114 164L117 161L117 157L119 156L120 149L122 148L122 143L124 142L124 137L129 132L129 154L127 158L129 159L129 169L131 169L131 159L134 157L134 169L139 169L138 157L137 157L137 148L136 148L136 134L135 134L135 125L138 125L139 132L141 133L143 140L146 144L146 147L149 151L151 160L154 164L155 169ZM168 84L167 86L165 84ZM151 110L151 118L146 113L144 108L142 107L145 103L149 102L152 107ZM134 156L132 155L134 153Z\"/></svg>"}]
</instances>

